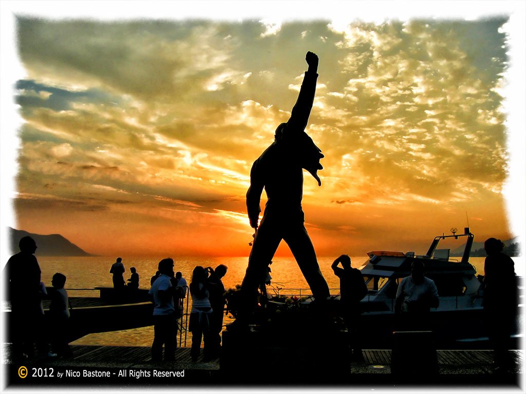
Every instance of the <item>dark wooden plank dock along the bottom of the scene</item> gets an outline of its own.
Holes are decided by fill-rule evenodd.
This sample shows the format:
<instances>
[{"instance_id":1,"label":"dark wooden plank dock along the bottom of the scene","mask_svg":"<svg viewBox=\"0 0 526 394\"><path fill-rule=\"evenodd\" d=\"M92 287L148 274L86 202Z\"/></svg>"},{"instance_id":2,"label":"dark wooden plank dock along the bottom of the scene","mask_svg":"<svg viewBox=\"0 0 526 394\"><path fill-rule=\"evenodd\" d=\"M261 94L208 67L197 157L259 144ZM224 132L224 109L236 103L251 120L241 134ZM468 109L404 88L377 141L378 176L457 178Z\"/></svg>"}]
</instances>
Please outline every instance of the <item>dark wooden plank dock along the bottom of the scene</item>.
<instances>
[{"instance_id":1,"label":"dark wooden plank dock along the bottom of the scene","mask_svg":"<svg viewBox=\"0 0 526 394\"><path fill-rule=\"evenodd\" d=\"M272 365L266 371L254 371L254 376L235 376L230 373L226 375L220 368L220 360L214 359L208 362L203 361L203 354L194 362L190 357L189 348L178 348L176 360L174 362L152 362L149 347L133 346L88 346L72 345L73 357L68 359L43 359L27 360L24 366L29 370L27 378L18 376L18 369L22 365L14 364L11 360L11 346L4 344L2 348L2 364L9 370L8 385L23 387L27 385L54 386L66 384L70 386L134 386L137 385L189 385L189 386L209 386L219 385L228 387L236 385L305 385L312 383L318 386L392 386L411 385L414 380L400 380L391 374L391 350L366 349L362 351L363 361L352 362L348 373L337 379L333 376L319 376L312 380L316 371L310 371L308 360L295 359L295 355L290 355L291 365L298 363L305 365L305 374L298 376L291 374L290 379L287 374L279 374L277 381L273 380L274 372ZM443 386L469 386L487 387L487 385L505 385L508 388L520 388L524 378L524 351L511 350L515 360L515 367L507 372L497 373L492 366L492 354L489 350L438 350L437 358L439 372L437 376L430 376L428 382L433 387ZM330 360L327 360L330 362ZM416 360L418 362L418 360ZM250 364L250 360L247 360ZM53 369L53 377L31 376L32 370L41 368L50 372ZM410 368L410 366L408 366ZM65 371L78 371L79 377L66 377ZM103 371L109 373L107 377L84 377L84 371ZM127 371L127 376L119 376L122 371ZM132 371L132 372L130 372ZM149 376L130 376L138 374L138 371ZM159 378L154 377L154 371L184 371L184 377ZM58 372L63 374L58 377ZM276 375L277 376L277 375ZM418 384L421 384L420 381Z\"/></svg>"}]
</instances>

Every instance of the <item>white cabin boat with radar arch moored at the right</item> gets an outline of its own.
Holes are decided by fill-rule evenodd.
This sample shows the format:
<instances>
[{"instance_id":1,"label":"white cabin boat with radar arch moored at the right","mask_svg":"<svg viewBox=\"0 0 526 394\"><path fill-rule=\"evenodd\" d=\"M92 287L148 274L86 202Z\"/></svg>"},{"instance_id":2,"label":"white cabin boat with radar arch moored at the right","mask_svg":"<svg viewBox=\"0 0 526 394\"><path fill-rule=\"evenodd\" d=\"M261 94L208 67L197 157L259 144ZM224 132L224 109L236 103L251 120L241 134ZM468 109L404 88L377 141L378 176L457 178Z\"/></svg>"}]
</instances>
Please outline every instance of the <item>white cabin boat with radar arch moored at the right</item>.
<instances>
[{"instance_id":1,"label":"white cabin boat with radar arch moored at the right","mask_svg":"<svg viewBox=\"0 0 526 394\"><path fill-rule=\"evenodd\" d=\"M481 288L482 275L469 263L474 235L469 227L463 234L451 229L452 235L434 237L424 255L414 252L373 251L367 253L369 259L360 267L368 287L365 298L361 300L362 315L360 338L364 343L389 346L392 332L397 329L395 315L396 291L400 280L411 274L411 264L420 261L424 264L425 275L433 279L439 294L439 306L431 308L430 327L437 344L444 348L487 348ZM439 248L443 240L466 239L460 261L450 257L450 249ZM523 287L522 278L517 277L510 286ZM518 303L514 339L523 337L521 332L523 305Z\"/></svg>"}]
</instances>

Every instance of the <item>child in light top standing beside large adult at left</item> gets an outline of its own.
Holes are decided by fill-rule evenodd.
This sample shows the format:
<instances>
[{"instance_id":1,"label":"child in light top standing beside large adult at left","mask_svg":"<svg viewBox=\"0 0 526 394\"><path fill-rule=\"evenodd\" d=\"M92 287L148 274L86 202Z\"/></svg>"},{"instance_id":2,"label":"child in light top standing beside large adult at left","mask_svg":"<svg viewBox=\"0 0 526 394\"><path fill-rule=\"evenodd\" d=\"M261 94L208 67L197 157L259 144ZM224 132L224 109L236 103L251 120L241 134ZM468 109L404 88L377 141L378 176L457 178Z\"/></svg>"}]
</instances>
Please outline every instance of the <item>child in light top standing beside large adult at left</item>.
<instances>
[{"instance_id":1,"label":"child in light top standing beside large adult at left","mask_svg":"<svg viewBox=\"0 0 526 394\"><path fill-rule=\"evenodd\" d=\"M67 326L69 323L69 302L64 289L66 276L57 272L53 275L51 284L54 292L50 295L49 325L54 351L63 357L72 356L67 340Z\"/></svg>"}]
</instances>

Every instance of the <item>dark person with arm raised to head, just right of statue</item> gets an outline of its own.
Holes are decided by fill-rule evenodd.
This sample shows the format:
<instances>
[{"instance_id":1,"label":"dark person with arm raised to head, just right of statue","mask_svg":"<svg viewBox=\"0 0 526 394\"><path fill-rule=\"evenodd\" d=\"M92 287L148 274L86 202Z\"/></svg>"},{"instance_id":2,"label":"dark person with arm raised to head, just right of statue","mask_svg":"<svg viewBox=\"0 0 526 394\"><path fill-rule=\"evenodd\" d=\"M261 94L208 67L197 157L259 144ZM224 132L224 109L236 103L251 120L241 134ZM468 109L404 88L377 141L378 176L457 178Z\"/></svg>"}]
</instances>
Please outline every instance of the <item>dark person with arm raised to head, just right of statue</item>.
<instances>
[{"instance_id":1,"label":"dark person with arm raised to head, just right of statue","mask_svg":"<svg viewBox=\"0 0 526 394\"><path fill-rule=\"evenodd\" d=\"M342 268L338 267L341 264ZM342 254L331 265L340 278L340 314L348 333L353 361L362 361L362 350L356 340L361 315L360 301L367 294L367 286L359 269L351 267L351 258Z\"/></svg>"}]
</instances>

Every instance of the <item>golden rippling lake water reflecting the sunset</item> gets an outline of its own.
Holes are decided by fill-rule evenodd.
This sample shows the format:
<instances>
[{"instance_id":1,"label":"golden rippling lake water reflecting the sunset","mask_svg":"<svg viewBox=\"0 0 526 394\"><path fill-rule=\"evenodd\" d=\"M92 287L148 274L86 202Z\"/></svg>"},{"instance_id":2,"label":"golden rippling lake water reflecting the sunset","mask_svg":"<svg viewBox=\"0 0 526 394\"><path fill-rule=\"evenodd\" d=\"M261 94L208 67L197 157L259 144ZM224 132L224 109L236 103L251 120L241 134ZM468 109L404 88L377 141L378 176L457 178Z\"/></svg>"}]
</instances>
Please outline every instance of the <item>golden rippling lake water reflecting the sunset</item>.
<instances>
[{"instance_id":1,"label":"golden rippling lake water reflecting the sunset","mask_svg":"<svg viewBox=\"0 0 526 394\"><path fill-rule=\"evenodd\" d=\"M38 256L37 256L38 257ZM163 257L126 257L123 258L126 267L125 279L129 278L130 267L137 268L140 281L139 287L149 288L150 277L157 271L157 264ZM351 257L352 266L360 267L367 261L367 256ZM458 257L460 260L460 257ZM210 258L174 258L174 271L183 273L188 284L191 272L196 265L204 267L216 267L225 264L228 267L227 275L222 279L225 288L235 287L241 284L247 267L246 256L244 257L210 257ZM339 294L339 279L330 268L334 257L319 257L318 262L321 272L331 288L331 294ZM524 258L513 258L515 261L515 273L524 276ZM113 286L112 275L109 273L110 266L115 262L115 257L38 257L42 269L42 281L46 286L51 285L54 273L61 272L67 277L66 289L70 297L93 296L98 297L98 291L93 291L96 286ZM471 257L470 263L477 269L477 273L483 273L484 257ZM272 286L290 289L308 289L307 282L292 257L275 257L271 265ZM190 302L191 303L191 302ZM190 306L191 307L191 306ZM224 323L229 322L228 318ZM113 331L110 333L90 334L76 340L76 345L113 345L113 346L151 346L154 338L153 327L143 327L124 331ZM187 346L190 346L190 334L187 338Z\"/></svg>"}]
</instances>

